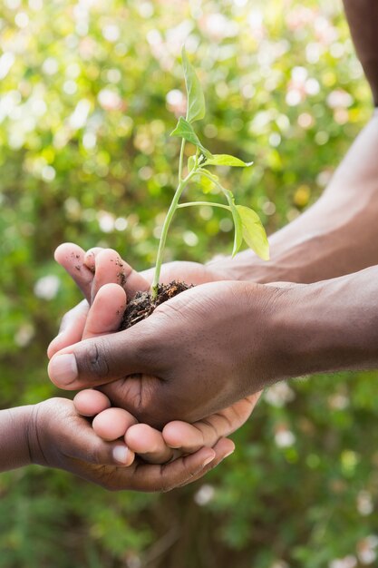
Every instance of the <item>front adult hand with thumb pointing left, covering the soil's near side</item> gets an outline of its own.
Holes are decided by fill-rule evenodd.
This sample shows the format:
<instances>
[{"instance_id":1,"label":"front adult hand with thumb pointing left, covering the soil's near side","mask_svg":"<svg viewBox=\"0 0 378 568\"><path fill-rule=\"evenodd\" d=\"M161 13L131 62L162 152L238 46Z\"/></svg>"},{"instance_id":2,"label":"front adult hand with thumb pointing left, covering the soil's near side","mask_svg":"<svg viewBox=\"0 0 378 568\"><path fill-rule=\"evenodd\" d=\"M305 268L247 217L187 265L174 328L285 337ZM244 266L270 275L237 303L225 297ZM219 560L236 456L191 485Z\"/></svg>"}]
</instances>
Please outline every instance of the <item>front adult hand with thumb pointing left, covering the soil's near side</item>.
<instances>
[{"instance_id":1,"label":"front adult hand with thumb pointing left, covering the soil's near side","mask_svg":"<svg viewBox=\"0 0 378 568\"><path fill-rule=\"evenodd\" d=\"M189 289L129 330L64 348L50 377L66 389L102 386L115 406L151 426L193 422L274 378L268 338L284 291L223 281Z\"/></svg>"}]
</instances>

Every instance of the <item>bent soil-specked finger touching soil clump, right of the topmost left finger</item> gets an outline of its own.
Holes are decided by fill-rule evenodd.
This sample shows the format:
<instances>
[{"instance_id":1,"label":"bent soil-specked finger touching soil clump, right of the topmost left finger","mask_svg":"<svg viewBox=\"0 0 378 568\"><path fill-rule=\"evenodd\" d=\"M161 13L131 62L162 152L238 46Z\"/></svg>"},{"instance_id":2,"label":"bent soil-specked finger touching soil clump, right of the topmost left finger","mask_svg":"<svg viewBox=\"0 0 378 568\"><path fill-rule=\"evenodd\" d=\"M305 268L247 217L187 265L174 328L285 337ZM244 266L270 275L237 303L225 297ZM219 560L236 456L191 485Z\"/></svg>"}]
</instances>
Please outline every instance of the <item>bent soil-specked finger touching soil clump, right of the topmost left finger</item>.
<instances>
[{"instance_id":1,"label":"bent soil-specked finger touching soil clump, right of the topmost left finger","mask_svg":"<svg viewBox=\"0 0 378 568\"><path fill-rule=\"evenodd\" d=\"M94 249L89 257L89 266L93 266L94 258L94 280L92 286L92 298L95 297L98 290L109 282L115 282L125 289L129 299L132 299L136 292L147 291L150 289L149 282L144 279L141 274L132 269L130 264L121 259L116 250L112 249ZM85 257L87 259L87 257ZM84 261L86 261L84 259Z\"/></svg>"}]
</instances>

